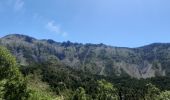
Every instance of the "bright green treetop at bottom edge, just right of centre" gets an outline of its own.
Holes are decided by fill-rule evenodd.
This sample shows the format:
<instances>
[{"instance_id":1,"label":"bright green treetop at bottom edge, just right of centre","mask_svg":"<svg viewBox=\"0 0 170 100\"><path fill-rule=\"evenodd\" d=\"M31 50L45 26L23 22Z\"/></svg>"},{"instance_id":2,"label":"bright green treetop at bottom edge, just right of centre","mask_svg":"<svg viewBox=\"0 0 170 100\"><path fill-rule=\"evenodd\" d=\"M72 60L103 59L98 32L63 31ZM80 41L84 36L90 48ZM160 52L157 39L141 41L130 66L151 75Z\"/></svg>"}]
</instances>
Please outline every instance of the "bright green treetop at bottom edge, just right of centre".
<instances>
[{"instance_id":1,"label":"bright green treetop at bottom edge, just right of centre","mask_svg":"<svg viewBox=\"0 0 170 100\"><path fill-rule=\"evenodd\" d=\"M117 89L106 80L97 81L98 100L118 100Z\"/></svg>"}]
</instances>

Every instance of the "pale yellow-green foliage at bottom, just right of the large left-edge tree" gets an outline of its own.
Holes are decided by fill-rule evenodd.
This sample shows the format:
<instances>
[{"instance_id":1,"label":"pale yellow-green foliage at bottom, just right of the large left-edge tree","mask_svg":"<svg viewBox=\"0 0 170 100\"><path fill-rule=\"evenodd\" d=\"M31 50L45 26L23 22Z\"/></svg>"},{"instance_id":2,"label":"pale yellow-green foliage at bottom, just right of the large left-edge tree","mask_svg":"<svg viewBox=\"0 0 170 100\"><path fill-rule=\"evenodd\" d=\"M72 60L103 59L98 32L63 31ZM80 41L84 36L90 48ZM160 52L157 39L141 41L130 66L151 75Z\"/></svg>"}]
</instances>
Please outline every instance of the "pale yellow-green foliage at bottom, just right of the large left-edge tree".
<instances>
[{"instance_id":1,"label":"pale yellow-green foliage at bottom, just right of the large left-edge tree","mask_svg":"<svg viewBox=\"0 0 170 100\"><path fill-rule=\"evenodd\" d=\"M57 96L49 85L41 81L39 72L27 76L28 88L31 90L29 100L54 100Z\"/></svg>"}]
</instances>

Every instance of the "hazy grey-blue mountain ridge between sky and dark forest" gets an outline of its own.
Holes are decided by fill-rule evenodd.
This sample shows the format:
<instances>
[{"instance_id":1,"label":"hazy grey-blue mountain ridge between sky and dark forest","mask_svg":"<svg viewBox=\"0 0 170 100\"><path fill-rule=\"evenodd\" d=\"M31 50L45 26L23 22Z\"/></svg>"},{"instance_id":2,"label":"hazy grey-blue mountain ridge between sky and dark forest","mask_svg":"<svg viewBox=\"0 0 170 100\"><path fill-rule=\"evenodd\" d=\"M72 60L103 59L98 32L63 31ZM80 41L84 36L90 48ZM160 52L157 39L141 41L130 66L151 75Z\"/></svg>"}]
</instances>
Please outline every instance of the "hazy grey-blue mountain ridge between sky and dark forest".
<instances>
[{"instance_id":1,"label":"hazy grey-blue mountain ridge between sky and dark forest","mask_svg":"<svg viewBox=\"0 0 170 100\"><path fill-rule=\"evenodd\" d=\"M21 65L55 58L76 70L105 76L129 75L136 78L165 76L170 73L170 44L154 43L139 48L104 44L79 44L12 34L0 38Z\"/></svg>"}]
</instances>

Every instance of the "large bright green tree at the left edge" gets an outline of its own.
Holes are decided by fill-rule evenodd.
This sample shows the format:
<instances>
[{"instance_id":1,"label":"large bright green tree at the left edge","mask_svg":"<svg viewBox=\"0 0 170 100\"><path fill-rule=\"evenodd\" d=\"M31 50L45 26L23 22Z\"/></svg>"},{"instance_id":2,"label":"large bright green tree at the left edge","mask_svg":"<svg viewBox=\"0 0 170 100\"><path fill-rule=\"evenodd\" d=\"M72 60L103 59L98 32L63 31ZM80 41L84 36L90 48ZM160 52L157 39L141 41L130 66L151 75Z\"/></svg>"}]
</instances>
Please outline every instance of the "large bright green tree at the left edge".
<instances>
[{"instance_id":1,"label":"large bright green tree at the left edge","mask_svg":"<svg viewBox=\"0 0 170 100\"><path fill-rule=\"evenodd\" d=\"M0 46L0 82L5 100L26 100L29 97L27 84L20 73L15 58Z\"/></svg>"}]
</instances>

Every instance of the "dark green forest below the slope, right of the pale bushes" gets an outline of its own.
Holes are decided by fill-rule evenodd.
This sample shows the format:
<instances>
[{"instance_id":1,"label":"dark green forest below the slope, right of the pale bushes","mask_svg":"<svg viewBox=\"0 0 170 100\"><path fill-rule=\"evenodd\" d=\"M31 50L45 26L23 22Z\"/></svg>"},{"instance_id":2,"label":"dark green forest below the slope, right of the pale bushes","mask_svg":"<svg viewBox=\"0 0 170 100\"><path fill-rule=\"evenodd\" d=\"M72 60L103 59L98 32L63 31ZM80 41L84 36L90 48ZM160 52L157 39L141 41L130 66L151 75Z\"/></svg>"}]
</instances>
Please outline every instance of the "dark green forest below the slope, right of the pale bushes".
<instances>
[{"instance_id":1,"label":"dark green forest below the slope, right of the pale bushes","mask_svg":"<svg viewBox=\"0 0 170 100\"><path fill-rule=\"evenodd\" d=\"M52 91L66 100L164 100L169 98L170 77L135 79L105 77L76 71L54 59L22 66L25 76L41 76Z\"/></svg>"}]
</instances>

